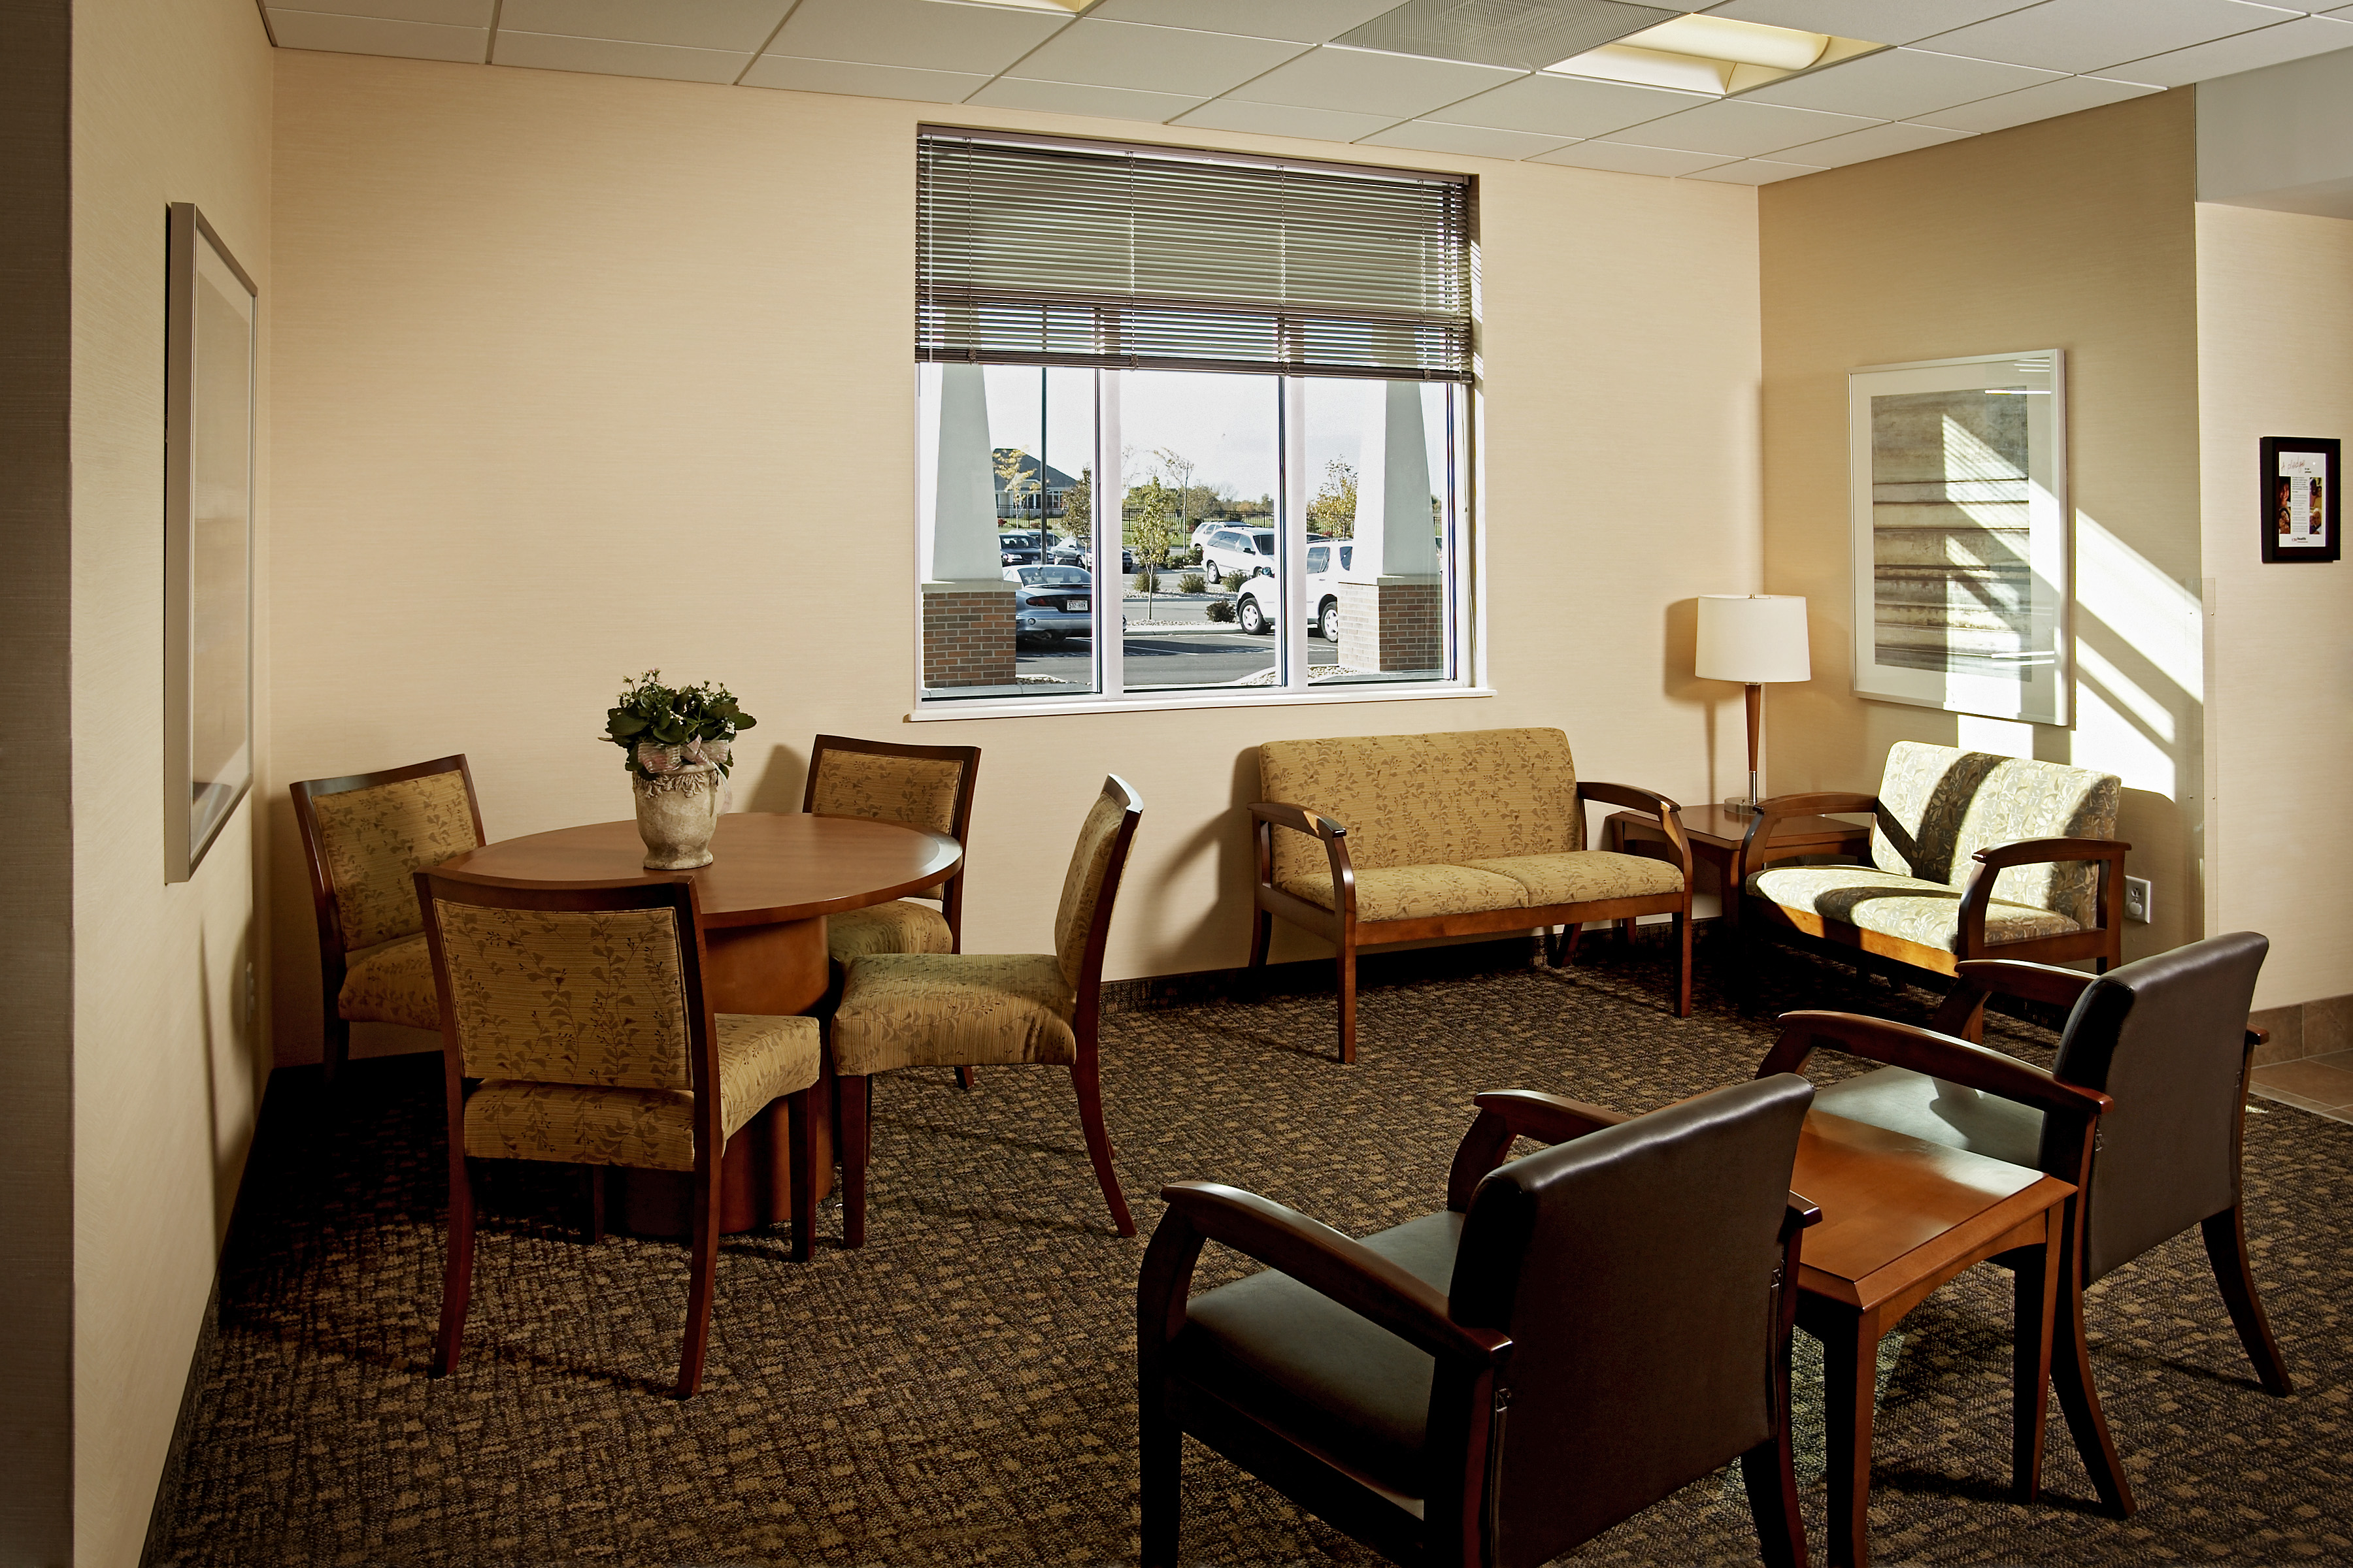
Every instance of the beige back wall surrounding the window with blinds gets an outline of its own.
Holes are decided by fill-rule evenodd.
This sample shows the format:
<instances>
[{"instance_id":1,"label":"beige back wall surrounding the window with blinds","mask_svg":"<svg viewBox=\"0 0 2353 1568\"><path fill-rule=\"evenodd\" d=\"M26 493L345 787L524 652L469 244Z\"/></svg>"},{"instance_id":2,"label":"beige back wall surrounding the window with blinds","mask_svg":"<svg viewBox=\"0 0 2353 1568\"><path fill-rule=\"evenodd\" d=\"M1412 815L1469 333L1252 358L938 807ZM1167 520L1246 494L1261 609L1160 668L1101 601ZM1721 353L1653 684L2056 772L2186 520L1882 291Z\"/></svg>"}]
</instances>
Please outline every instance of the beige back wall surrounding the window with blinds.
<instances>
[{"instance_id":1,"label":"beige back wall surrounding the window with blinds","mask_svg":"<svg viewBox=\"0 0 2353 1568\"><path fill-rule=\"evenodd\" d=\"M464 750L492 837L626 816L593 736L647 665L722 677L758 715L736 778L755 809L798 809L816 731L986 748L981 952L1047 940L1085 802L1127 776L1146 818L1111 976L1245 959L1235 806L1266 738L1560 724L1588 776L1732 783L1737 717L1711 724L1737 691L1689 679L1687 607L1668 628L1697 592L1755 588L1753 193L1388 150L1482 176L1499 696L906 724L913 132L946 113L1151 134L278 54L282 1060L318 1048L285 783Z\"/></svg>"}]
</instances>

